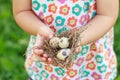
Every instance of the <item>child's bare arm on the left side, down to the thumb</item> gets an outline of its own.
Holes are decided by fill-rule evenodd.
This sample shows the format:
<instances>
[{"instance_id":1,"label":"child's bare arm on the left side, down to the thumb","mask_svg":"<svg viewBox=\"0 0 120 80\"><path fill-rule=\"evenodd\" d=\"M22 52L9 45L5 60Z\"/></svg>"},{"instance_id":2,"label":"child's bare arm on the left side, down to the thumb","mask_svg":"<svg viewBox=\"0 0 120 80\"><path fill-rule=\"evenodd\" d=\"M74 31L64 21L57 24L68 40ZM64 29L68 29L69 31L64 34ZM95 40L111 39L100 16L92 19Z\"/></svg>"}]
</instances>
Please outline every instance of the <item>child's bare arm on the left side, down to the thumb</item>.
<instances>
[{"instance_id":1,"label":"child's bare arm on the left side, down to the thumb","mask_svg":"<svg viewBox=\"0 0 120 80\"><path fill-rule=\"evenodd\" d=\"M13 14L17 24L29 34L40 33L44 37L50 37L52 30L35 16L31 2L31 0L13 0Z\"/></svg>"}]
</instances>

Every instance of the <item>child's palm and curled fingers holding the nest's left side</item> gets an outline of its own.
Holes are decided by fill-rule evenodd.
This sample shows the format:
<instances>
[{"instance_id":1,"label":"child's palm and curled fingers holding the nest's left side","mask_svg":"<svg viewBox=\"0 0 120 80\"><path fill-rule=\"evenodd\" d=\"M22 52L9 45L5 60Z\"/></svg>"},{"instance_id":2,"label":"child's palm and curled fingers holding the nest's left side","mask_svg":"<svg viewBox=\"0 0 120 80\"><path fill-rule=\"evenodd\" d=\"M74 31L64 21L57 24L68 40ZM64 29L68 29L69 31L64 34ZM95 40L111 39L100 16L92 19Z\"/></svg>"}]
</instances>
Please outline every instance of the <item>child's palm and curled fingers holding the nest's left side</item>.
<instances>
[{"instance_id":1,"label":"child's palm and curled fingers holding the nest's left side","mask_svg":"<svg viewBox=\"0 0 120 80\"><path fill-rule=\"evenodd\" d=\"M43 40L44 40L44 37L42 37L40 34L37 34L37 39L36 39L33 52L36 54L37 58L40 61L46 62L46 63L53 63L52 58L48 57L48 55L42 49Z\"/></svg>"}]
</instances>

